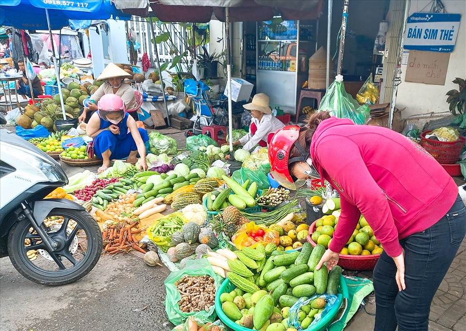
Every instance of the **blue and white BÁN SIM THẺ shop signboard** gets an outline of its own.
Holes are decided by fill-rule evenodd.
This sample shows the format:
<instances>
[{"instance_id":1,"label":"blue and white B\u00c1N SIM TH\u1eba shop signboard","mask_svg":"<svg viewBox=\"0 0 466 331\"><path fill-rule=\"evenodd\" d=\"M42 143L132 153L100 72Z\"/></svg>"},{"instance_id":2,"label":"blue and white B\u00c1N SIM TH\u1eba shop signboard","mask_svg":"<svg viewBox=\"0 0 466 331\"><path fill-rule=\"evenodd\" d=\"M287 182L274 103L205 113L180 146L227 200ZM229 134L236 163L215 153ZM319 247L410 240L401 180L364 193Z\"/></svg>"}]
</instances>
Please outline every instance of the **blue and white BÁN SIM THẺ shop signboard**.
<instances>
[{"instance_id":1,"label":"blue and white B\u00c1N SIM TH\u1eba shop signboard","mask_svg":"<svg viewBox=\"0 0 466 331\"><path fill-rule=\"evenodd\" d=\"M460 14L414 13L406 23L404 49L453 52L460 20Z\"/></svg>"}]
</instances>

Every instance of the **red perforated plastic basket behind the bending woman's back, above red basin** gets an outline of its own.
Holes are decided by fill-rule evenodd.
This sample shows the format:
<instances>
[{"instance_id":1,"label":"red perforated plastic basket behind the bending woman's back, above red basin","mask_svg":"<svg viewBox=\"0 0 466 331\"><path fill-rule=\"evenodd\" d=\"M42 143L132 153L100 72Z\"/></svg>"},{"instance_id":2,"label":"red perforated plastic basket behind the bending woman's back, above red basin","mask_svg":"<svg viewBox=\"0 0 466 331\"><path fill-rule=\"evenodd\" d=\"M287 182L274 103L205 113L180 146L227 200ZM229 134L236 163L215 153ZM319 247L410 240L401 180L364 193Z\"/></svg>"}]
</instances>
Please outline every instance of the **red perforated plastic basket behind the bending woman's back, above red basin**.
<instances>
[{"instance_id":1,"label":"red perforated plastic basket behind the bending woman's back, above red basin","mask_svg":"<svg viewBox=\"0 0 466 331\"><path fill-rule=\"evenodd\" d=\"M432 131L424 131L421 134L421 146L429 152L440 164L453 164L460 158L466 138L461 137L456 141L437 141L426 138Z\"/></svg>"}]
</instances>

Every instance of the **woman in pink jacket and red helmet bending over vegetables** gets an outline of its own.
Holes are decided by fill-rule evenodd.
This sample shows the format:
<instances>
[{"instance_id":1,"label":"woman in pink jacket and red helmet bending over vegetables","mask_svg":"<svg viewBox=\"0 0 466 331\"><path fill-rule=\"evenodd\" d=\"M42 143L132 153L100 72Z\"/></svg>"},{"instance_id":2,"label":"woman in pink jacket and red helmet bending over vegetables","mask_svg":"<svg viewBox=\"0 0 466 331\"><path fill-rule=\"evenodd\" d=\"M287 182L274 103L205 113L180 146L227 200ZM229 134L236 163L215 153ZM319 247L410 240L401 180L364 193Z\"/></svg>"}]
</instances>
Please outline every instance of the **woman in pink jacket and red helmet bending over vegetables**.
<instances>
[{"instance_id":1,"label":"woman in pink jacket and red helmet bending over vegetables","mask_svg":"<svg viewBox=\"0 0 466 331\"><path fill-rule=\"evenodd\" d=\"M316 177L340 194L338 227L317 269L337 264L363 214L384 248L373 274L374 330L428 330L433 296L466 232L465 205L440 164L397 132L328 112L280 129L269 159L284 187Z\"/></svg>"}]
</instances>

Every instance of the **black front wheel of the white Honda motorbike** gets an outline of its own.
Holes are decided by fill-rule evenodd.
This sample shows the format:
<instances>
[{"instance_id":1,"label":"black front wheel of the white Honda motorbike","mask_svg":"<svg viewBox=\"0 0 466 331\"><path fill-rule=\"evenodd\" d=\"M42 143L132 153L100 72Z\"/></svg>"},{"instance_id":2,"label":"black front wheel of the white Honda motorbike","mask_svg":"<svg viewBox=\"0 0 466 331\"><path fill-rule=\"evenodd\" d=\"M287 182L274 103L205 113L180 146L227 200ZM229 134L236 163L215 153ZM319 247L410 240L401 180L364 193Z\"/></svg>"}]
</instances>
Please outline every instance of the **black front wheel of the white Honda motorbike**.
<instances>
[{"instance_id":1,"label":"black front wheel of the white Honda motorbike","mask_svg":"<svg viewBox=\"0 0 466 331\"><path fill-rule=\"evenodd\" d=\"M53 209L43 227L56 243L48 251L31 223L17 222L8 236L10 260L21 275L42 285L65 285L87 275L99 261L102 233L85 210Z\"/></svg>"}]
</instances>

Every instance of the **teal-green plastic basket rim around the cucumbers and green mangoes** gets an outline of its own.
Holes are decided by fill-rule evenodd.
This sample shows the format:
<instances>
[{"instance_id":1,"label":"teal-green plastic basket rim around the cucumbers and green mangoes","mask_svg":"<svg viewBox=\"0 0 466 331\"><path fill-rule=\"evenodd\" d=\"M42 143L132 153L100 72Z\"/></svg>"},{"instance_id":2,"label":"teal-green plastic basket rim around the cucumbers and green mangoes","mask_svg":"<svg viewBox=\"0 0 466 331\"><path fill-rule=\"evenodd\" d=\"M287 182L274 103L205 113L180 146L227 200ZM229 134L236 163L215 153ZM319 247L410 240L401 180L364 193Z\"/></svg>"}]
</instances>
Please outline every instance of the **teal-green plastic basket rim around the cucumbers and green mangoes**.
<instances>
[{"instance_id":1,"label":"teal-green plastic basket rim around the cucumbers and green mangoes","mask_svg":"<svg viewBox=\"0 0 466 331\"><path fill-rule=\"evenodd\" d=\"M220 285L218 290L216 291L215 295L215 311L217 313L218 318L225 323L227 327L234 331L250 331L251 329L242 327L238 324L236 324L234 321L232 321L230 318L225 315L222 311L222 304L220 303L220 296L222 293L230 293L236 288L236 286L233 285L233 283L230 282L230 279L225 279L223 283ZM330 324L332 324L333 319L335 318L336 314L340 310L341 305L343 304L343 299L348 298L349 292L348 292L348 286L346 284L345 278L341 275L340 276L340 285L338 285L338 295L337 295L337 301L335 302L335 305L333 308L320 320L318 321L315 325L312 325L311 327L305 329L305 331L323 331L328 328Z\"/></svg>"}]
</instances>

